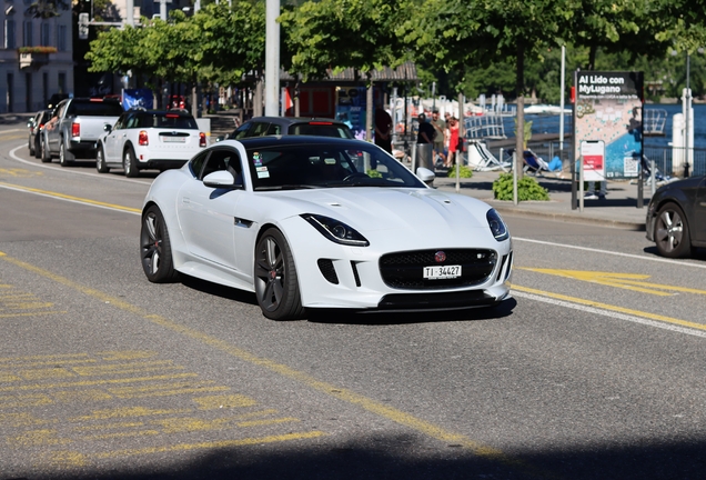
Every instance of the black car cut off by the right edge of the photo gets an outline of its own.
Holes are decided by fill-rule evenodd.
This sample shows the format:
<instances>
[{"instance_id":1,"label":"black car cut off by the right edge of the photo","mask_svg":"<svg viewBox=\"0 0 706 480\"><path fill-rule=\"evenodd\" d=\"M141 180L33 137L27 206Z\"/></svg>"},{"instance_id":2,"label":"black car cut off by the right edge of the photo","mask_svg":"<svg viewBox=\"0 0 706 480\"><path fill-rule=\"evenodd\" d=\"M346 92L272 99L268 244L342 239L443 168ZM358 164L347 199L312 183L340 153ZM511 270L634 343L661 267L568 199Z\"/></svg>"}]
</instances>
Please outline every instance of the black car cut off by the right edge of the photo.
<instances>
[{"instance_id":1,"label":"black car cut off by the right edge of the photo","mask_svg":"<svg viewBox=\"0 0 706 480\"><path fill-rule=\"evenodd\" d=\"M662 186L649 201L647 240L663 257L682 258L706 247L706 176Z\"/></svg>"}]
</instances>

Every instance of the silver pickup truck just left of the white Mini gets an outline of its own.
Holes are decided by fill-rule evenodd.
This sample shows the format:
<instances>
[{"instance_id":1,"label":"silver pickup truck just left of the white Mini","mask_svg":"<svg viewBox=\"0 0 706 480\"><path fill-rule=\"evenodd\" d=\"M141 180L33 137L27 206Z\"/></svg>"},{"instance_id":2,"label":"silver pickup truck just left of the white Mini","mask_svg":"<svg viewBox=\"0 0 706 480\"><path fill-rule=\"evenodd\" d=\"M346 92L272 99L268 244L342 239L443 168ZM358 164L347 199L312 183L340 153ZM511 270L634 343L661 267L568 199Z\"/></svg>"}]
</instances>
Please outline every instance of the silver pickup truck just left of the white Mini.
<instances>
[{"instance_id":1,"label":"silver pickup truck just left of the white Mini","mask_svg":"<svg viewBox=\"0 0 706 480\"><path fill-rule=\"evenodd\" d=\"M60 101L42 130L41 160L50 162L59 157L61 167L67 167L77 158L94 159L95 142L103 133L103 126L115 123L121 113L120 102L113 99Z\"/></svg>"}]
</instances>

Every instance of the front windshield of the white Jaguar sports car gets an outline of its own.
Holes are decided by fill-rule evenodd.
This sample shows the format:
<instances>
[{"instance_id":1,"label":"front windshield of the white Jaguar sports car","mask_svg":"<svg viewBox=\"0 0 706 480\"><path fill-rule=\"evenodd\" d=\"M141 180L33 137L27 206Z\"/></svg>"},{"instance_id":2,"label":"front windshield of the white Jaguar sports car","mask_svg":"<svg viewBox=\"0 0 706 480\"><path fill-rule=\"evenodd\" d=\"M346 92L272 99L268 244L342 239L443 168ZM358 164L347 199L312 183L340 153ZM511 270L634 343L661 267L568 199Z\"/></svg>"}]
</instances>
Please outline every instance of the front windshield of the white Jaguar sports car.
<instances>
[{"instance_id":1,"label":"front windshield of the white Jaguar sports car","mask_svg":"<svg viewBox=\"0 0 706 480\"><path fill-rule=\"evenodd\" d=\"M384 150L363 142L248 149L248 163L255 190L424 187Z\"/></svg>"}]
</instances>

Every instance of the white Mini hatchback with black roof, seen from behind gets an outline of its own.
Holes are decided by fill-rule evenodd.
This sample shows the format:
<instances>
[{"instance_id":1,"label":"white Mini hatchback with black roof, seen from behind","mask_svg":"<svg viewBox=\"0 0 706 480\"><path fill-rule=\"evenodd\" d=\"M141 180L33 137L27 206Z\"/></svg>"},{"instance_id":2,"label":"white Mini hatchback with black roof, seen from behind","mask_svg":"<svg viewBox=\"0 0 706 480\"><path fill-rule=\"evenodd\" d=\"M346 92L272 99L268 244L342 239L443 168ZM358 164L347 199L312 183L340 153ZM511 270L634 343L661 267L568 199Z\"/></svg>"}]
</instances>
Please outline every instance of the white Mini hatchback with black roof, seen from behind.
<instances>
[{"instance_id":1,"label":"white Mini hatchback with black roof, seen from behind","mask_svg":"<svg viewBox=\"0 0 706 480\"><path fill-rule=\"evenodd\" d=\"M95 168L107 173L121 168L127 177L140 170L180 168L206 146L206 136L185 110L129 110L97 146Z\"/></svg>"}]
</instances>

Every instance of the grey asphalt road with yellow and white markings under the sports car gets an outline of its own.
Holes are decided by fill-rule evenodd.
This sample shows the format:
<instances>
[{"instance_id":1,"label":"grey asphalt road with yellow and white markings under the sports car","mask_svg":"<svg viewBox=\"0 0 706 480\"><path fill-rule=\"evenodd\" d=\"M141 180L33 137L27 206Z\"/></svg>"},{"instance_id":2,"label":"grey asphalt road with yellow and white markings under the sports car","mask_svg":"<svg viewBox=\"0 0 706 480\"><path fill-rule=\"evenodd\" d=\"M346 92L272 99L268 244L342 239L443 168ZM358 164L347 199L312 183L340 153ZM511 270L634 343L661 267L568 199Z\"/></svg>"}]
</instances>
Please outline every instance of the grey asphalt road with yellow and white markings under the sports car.
<instances>
[{"instance_id":1,"label":"grey asphalt road with yellow and white markings under the sports car","mask_svg":"<svg viewBox=\"0 0 706 480\"><path fill-rule=\"evenodd\" d=\"M0 129L0 480L706 471L703 258L508 217L496 310L273 322L249 293L147 281L154 174L26 144Z\"/></svg>"}]
</instances>

